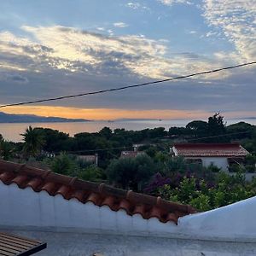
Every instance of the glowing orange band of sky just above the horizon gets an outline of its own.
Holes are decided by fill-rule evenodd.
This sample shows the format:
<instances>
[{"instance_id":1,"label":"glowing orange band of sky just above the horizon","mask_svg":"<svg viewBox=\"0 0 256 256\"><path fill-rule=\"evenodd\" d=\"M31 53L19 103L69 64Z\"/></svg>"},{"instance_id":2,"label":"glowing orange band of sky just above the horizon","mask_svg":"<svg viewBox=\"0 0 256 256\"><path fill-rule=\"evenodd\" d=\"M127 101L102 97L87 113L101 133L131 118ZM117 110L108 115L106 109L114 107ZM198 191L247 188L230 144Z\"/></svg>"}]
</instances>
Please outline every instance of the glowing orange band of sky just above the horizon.
<instances>
[{"instance_id":1,"label":"glowing orange band of sky just above the horizon","mask_svg":"<svg viewBox=\"0 0 256 256\"><path fill-rule=\"evenodd\" d=\"M203 110L177 109L115 109L115 108L69 108L52 106L19 106L0 109L4 113L36 114L41 116L62 117L70 119L207 119L213 113ZM225 118L255 116L255 111L221 113Z\"/></svg>"}]
</instances>

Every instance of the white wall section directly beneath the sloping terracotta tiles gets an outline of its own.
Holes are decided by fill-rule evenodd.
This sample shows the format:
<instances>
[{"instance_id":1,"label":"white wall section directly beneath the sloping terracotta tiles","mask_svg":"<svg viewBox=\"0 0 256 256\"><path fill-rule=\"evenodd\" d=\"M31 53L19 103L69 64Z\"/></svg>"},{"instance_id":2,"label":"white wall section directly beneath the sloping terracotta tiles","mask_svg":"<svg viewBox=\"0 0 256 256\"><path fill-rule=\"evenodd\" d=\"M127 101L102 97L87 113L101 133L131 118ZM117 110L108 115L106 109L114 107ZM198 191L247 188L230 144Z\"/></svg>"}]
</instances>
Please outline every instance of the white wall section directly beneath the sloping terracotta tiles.
<instances>
[{"instance_id":1,"label":"white wall section directly beneath the sloping terracotta tiles","mask_svg":"<svg viewBox=\"0 0 256 256\"><path fill-rule=\"evenodd\" d=\"M67 201L62 195L19 189L0 182L0 225L69 228L77 230L105 230L114 233L161 234L175 233L173 222L161 223L158 218L144 219L140 214L128 215L124 210L113 212L109 207L93 203Z\"/></svg>"}]
</instances>

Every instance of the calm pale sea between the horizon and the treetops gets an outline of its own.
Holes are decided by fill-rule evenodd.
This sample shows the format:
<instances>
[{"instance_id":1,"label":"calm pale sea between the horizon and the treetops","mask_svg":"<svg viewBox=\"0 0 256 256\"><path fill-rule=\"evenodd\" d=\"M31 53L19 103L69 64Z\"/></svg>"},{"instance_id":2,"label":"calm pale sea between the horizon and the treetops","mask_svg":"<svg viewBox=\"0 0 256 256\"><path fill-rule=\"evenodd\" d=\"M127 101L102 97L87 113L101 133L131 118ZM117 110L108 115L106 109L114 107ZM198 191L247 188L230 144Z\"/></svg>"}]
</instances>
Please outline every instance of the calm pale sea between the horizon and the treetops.
<instances>
[{"instance_id":1,"label":"calm pale sea between the horizon and the treetops","mask_svg":"<svg viewBox=\"0 0 256 256\"><path fill-rule=\"evenodd\" d=\"M18 124L0 124L0 134L3 138L12 142L20 142L22 137L20 133L26 131L29 125L32 127L51 128L58 131L63 131L73 136L79 132L96 132L100 131L103 127L108 126L110 129L125 128L125 130L139 131L146 128L165 127L168 130L172 126L183 127L189 123L189 119L172 119L172 120L136 120L136 121L91 121L79 123L18 123ZM245 121L252 125L256 125L256 119L228 119L227 124L234 124L240 121Z\"/></svg>"}]
</instances>

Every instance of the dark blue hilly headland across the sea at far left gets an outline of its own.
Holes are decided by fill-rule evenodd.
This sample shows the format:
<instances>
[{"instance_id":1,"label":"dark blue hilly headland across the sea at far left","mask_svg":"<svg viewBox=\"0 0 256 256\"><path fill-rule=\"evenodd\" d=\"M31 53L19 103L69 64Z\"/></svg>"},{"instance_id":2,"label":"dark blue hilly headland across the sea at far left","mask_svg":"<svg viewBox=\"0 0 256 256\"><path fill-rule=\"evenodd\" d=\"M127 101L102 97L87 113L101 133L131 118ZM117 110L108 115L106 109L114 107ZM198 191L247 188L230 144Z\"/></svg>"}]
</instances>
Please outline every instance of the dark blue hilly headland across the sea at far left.
<instances>
[{"instance_id":1,"label":"dark blue hilly headland across the sea at far left","mask_svg":"<svg viewBox=\"0 0 256 256\"><path fill-rule=\"evenodd\" d=\"M0 112L0 123L57 123L57 122L88 122L88 119L64 119L44 117L34 114L9 114Z\"/></svg>"}]
</instances>

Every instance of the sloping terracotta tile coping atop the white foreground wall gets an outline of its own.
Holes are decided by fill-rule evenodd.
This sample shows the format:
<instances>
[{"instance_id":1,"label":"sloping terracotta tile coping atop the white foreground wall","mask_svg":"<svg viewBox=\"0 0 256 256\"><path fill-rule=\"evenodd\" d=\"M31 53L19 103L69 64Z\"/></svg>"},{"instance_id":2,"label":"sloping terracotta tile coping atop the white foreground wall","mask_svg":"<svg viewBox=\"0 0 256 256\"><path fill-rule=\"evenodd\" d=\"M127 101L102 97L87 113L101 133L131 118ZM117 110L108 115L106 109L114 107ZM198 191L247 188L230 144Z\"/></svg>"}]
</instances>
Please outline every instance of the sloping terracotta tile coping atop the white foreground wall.
<instances>
[{"instance_id":1,"label":"sloping terracotta tile coping atop the white foreground wall","mask_svg":"<svg viewBox=\"0 0 256 256\"><path fill-rule=\"evenodd\" d=\"M141 214L143 218L158 218L161 222L195 213L195 209L160 197L143 195L131 190L115 189L108 185L90 183L77 177L68 177L31 166L0 160L0 180L9 185L16 183L20 189L31 187L35 192L47 191L49 195L62 195L64 199L76 198L82 203L93 202L96 206L108 206L112 211L121 209L127 214Z\"/></svg>"}]
</instances>

